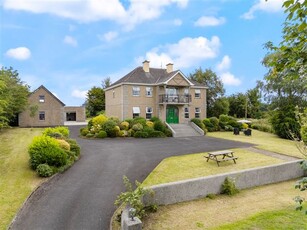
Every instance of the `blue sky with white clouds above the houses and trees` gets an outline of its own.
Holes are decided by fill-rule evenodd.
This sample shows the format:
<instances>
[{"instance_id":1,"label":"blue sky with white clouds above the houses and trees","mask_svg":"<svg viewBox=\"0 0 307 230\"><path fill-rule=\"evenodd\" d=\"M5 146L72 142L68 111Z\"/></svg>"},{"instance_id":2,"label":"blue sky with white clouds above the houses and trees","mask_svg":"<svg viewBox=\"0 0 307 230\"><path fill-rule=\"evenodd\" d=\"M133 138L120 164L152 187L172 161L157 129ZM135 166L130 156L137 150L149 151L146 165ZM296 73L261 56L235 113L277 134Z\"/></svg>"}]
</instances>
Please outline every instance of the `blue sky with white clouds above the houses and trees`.
<instances>
[{"instance_id":1,"label":"blue sky with white clouds above the houses and trees","mask_svg":"<svg viewBox=\"0 0 307 230\"><path fill-rule=\"evenodd\" d=\"M264 44L279 44L283 0L0 0L0 66L69 106L144 60L189 76L212 69L226 95L263 80Z\"/></svg>"}]
</instances>

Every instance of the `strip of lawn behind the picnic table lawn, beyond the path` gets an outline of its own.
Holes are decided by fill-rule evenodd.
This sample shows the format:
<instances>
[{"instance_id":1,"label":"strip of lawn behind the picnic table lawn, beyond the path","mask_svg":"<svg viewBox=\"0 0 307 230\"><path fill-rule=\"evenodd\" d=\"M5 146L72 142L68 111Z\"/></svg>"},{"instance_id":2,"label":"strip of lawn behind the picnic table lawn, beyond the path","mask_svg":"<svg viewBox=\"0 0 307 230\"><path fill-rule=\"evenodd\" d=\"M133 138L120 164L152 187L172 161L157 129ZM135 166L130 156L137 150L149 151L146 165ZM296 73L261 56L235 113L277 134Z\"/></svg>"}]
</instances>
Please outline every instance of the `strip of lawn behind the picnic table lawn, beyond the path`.
<instances>
[{"instance_id":1,"label":"strip of lawn behind the picnic table lawn, beyond the path","mask_svg":"<svg viewBox=\"0 0 307 230\"><path fill-rule=\"evenodd\" d=\"M252 130L252 136L245 136L242 133L240 133L240 135L233 135L232 132L212 132L207 133L207 135L209 137L256 144L256 147L259 149L303 158L303 155L297 149L294 141L281 139L277 135L272 133Z\"/></svg>"}]
</instances>

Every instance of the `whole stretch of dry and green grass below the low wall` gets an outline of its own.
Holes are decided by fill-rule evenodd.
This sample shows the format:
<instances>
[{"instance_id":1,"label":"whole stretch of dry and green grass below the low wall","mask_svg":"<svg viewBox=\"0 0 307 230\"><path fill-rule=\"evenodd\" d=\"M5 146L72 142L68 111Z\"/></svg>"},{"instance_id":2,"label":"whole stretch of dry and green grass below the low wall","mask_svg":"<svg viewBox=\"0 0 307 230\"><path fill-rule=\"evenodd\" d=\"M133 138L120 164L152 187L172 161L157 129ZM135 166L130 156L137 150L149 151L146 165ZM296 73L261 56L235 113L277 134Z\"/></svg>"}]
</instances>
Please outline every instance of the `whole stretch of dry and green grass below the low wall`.
<instances>
[{"instance_id":1,"label":"whole stretch of dry and green grass below the low wall","mask_svg":"<svg viewBox=\"0 0 307 230\"><path fill-rule=\"evenodd\" d=\"M242 190L191 202L160 206L143 229L307 229L307 216L295 211L295 181Z\"/></svg>"}]
</instances>

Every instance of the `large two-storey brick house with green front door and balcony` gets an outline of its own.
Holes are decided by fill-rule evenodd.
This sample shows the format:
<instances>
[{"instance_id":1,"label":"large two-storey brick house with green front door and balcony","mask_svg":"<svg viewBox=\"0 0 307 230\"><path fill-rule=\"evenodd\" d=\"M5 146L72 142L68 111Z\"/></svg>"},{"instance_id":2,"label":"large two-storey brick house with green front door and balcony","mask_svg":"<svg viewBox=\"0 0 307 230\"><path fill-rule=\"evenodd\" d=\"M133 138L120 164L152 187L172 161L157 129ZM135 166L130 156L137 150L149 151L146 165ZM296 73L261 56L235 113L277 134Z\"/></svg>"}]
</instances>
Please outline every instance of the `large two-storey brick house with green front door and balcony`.
<instances>
[{"instance_id":1,"label":"large two-storey brick house with green front door and balcony","mask_svg":"<svg viewBox=\"0 0 307 230\"><path fill-rule=\"evenodd\" d=\"M207 87L189 80L173 64L150 68L149 61L105 89L106 115L121 120L159 117L167 123L206 118Z\"/></svg>"}]
</instances>

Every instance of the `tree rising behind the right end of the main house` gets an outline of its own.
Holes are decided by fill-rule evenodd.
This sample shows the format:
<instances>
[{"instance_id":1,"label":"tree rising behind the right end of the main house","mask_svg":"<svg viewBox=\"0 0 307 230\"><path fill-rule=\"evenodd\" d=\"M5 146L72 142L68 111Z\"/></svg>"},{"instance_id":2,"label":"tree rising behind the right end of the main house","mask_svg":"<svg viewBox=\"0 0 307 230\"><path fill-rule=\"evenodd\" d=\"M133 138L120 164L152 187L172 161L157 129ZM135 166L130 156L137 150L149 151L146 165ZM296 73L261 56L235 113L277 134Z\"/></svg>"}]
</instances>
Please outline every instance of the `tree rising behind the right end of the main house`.
<instances>
[{"instance_id":1,"label":"tree rising behind the right end of the main house","mask_svg":"<svg viewBox=\"0 0 307 230\"><path fill-rule=\"evenodd\" d=\"M214 111L217 99L225 94L225 89L221 79L211 69L203 71L201 68L196 69L194 73L190 74L189 79L204 84L207 89L207 116L212 117L216 115ZM220 103L221 101L218 101ZM220 114L218 114L220 115ZM217 116L218 117L218 116Z\"/></svg>"}]
</instances>

